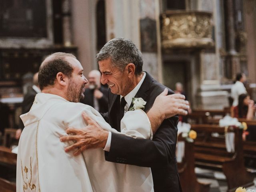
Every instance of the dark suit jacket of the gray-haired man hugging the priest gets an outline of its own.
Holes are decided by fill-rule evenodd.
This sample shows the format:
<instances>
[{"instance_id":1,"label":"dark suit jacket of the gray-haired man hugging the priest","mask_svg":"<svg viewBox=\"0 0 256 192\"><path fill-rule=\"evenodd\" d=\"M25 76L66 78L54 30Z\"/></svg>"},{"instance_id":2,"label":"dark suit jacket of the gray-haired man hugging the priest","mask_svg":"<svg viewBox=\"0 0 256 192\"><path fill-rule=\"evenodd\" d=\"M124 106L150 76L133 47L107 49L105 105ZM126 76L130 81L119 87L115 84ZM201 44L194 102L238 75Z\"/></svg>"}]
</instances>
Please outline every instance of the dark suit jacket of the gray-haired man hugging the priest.
<instances>
[{"instance_id":1,"label":"dark suit jacket of the gray-haired man hugging the priest","mask_svg":"<svg viewBox=\"0 0 256 192\"><path fill-rule=\"evenodd\" d=\"M163 92L165 86L146 73L144 82L135 97L143 98L147 103L144 111L148 111L155 98ZM168 88L168 94L174 92ZM109 110L105 120L112 128L117 128L118 101L120 96L109 94ZM105 114L106 115L106 114ZM110 151L105 152L107 161L151 167L155 192L180 192L180 182L176 165L178 116L164 120L155 133L153 140L134 139L121 134L112 133Z\"/></svg>"}]
</instances>

